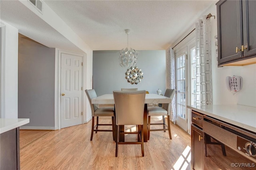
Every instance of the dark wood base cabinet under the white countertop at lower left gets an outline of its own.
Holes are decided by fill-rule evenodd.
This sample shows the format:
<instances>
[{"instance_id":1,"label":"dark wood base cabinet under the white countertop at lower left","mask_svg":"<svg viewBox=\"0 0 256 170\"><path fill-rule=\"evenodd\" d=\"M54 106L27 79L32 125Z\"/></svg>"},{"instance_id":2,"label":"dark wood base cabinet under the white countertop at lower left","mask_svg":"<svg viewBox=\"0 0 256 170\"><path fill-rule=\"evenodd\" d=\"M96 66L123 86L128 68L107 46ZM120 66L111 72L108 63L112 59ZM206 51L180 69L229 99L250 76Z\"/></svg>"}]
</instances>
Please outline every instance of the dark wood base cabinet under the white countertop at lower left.
<instances>
[{"instance_id":1,"label":"dark wood base cabinet under the white countertop at lower left","mask_svg":"<svg viewBox=\"0 0 256 170\"><path fill-rule=\"evenodd\" d=\"M20 170L20 128L0 134L0 170Z\"/></svg>"}]
</instances>

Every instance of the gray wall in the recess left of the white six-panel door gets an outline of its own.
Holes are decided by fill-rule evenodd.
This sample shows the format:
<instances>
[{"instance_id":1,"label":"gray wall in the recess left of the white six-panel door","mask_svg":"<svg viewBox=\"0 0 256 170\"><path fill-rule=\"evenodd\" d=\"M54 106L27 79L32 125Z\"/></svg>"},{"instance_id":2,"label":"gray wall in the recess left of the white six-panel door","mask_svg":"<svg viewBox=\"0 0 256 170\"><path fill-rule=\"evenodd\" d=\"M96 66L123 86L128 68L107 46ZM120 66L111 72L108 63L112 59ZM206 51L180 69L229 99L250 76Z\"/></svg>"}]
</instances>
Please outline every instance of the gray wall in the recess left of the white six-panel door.
<instances>
[{"instance_id":1,"label":"gray wall in the recess left of the white six-panel door","mask_svg":"<svg viewBox=\"0 0 256 170\"><path fill-rule=\"evenodd\" d=\"M55 49L19 37L18 118L26 127L54 127Z\"/></svg>"}]
</instances>

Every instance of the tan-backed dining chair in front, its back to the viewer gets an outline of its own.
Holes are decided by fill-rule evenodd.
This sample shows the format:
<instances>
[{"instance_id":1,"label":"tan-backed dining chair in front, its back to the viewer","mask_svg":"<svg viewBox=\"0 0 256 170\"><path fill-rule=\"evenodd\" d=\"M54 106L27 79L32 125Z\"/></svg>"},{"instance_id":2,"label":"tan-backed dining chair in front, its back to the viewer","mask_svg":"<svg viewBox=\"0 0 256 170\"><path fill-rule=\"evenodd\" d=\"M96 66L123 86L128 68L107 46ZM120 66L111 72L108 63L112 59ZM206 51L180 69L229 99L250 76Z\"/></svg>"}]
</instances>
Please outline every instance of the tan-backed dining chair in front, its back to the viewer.
<instances>
[{"instance_id":1,"label":"tan-backed dining chair in front, its back to the viewer","mask_svg":"<svg viewBox=\"0 0 256 170\"><path fill-rule=\"evenodd\" d=\"M123 144L140 144L142 156L144 156L144 139L143 139L143 113L146 91L113 91L115 102L115 120L116 120L116 157L118 156L118 145ZM120 132L120 125L138 125L135 132ZM136 142L121 142L120 134L137 134Z\"/></svg>"}]
</instances>

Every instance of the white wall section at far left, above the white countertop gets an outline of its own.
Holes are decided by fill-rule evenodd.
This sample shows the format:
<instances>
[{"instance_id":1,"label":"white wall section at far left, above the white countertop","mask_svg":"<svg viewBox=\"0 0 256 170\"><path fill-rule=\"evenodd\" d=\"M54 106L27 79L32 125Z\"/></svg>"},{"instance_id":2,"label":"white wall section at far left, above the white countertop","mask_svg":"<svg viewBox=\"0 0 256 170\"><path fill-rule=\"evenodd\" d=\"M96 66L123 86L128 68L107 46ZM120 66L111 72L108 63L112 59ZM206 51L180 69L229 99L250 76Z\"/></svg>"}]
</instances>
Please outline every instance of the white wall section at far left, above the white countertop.
<instances>
[{"instance_id":1,"label":"white wall section at far left, above the white countertop","mask_svg":"<svg viewBox=\"0 0 256 170\"><path fill-rule=\"evenodd\" d=\"M1 118L18 118L18 29L1 21Z\"/></svg>"}]
</instances>

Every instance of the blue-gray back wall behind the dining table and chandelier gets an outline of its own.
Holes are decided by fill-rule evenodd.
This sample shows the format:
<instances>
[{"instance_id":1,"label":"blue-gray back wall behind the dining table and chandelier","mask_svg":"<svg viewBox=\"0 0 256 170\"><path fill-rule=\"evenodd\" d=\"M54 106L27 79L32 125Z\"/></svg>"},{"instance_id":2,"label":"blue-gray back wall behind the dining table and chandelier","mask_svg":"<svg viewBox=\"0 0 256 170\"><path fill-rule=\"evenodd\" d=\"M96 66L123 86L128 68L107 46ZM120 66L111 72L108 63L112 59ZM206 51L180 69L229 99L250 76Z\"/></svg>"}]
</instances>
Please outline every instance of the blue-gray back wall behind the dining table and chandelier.
<instances>
[{"instance_id":1,"label":"blue-gray back wall behind the dining table and chandelier","mask_svg":"<svg viewBox=\"0 0 256 170\"><path fill-rule=\"evenodd\" d=\"M143 79L138 84L130 84L125 79L127 68L119 65L119 51L93 51L93 88L98 96L112 94L121 88L138 88L156 93L160 88L166 90L166 55L165 50L137 51L138 63Z\"/></svg>"}]
</instances>

